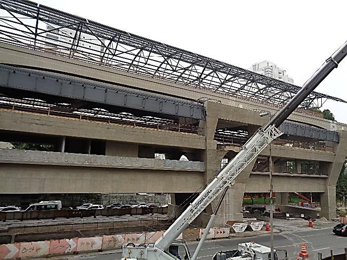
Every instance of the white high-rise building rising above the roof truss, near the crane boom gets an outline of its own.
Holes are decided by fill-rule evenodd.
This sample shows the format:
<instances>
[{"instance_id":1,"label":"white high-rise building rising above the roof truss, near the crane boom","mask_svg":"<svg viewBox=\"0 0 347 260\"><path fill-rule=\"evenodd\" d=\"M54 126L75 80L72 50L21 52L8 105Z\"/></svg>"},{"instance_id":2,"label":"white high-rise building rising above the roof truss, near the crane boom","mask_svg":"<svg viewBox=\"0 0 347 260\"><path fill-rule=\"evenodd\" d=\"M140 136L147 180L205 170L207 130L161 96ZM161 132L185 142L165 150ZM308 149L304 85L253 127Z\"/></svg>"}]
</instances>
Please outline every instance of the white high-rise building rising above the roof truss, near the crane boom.
<instances>
[{"instance_id":1,"label":"white high-rise building rising above the roof truss, near the crane boom","mask_svg":"<svg viewBox=\"0 0 347 260\"><path fill-rule=\"evenodd\" d=\"M288 77L286 70L279 68L275 63L267 60L253 64L248 70L291 84L294 82L293 79Z\"/></svg>"}]
</instances>

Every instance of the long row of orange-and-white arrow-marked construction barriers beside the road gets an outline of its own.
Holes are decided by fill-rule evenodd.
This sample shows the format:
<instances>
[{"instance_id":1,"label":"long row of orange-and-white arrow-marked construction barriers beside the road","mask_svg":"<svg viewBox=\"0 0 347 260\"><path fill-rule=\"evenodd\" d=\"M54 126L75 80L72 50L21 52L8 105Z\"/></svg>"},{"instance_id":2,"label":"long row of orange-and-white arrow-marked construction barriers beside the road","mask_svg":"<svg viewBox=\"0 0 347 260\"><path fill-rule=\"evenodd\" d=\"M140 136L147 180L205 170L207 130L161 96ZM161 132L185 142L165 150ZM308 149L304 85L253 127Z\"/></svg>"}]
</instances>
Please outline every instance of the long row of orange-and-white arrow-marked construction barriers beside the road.
<instances>
[{"instance_id":1,"label":"long row of orange-and-white arrow-marked construction barriers beside the road","mask_svg":"<svg viewBox=\"0 0 347 260\"><path fill-rule=\"evenodd\" d=\"M247 223L236 223L235 232L243 232ZM240 231L241 230L241 231ZM123 244L153 244L165 231L153 231L131 234L105 235L71 239L55 239L39 242L22 242L14 244L0 244L0 260L53 256L74 252L119 249ZM178 239L198 240L206 229L185 229ZM207 239L227 238L230 228L216 227L209 230Z\"/></svg>"}]
</instances>

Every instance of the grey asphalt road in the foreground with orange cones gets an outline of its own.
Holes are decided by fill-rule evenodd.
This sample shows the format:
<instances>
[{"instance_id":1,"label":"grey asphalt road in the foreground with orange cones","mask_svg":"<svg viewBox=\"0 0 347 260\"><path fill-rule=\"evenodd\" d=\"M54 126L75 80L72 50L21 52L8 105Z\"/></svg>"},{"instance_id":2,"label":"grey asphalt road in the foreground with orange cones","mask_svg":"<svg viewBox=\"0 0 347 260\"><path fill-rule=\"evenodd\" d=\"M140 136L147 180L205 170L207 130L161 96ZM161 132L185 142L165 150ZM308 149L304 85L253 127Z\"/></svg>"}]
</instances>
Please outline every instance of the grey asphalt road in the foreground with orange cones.
<instances>
[{"instance_id":1,"label":"grey asphalt road in the foreground with orange cones","mask_svg":"<svg viewBox=\"0 0 347 260\"><path fill-rule=\"evenodd\" d=\"M239 243L251 242L262 244L270 247L270 235L262 235L258 237L248 238L231 238L223 240L206 241L200 251L199 260L212 260L213 255L219 251L237 249ZM188 243L190 254L193 255L198 242ZM301 250L301 244L307 245L307 253L309 260L316 260L317 253L320 252L324 256L330 255L330 250L334 250L334 254L344 253L347 247L347 237L336 236L332 233L332 228L313 229L303 232L287 232L274 234L274 246L277 249L285 249L288 252L290 260L296 260ZM69 260L120 260L120 253L75 256L68 258Z\"/></svg>"}]
</instances>

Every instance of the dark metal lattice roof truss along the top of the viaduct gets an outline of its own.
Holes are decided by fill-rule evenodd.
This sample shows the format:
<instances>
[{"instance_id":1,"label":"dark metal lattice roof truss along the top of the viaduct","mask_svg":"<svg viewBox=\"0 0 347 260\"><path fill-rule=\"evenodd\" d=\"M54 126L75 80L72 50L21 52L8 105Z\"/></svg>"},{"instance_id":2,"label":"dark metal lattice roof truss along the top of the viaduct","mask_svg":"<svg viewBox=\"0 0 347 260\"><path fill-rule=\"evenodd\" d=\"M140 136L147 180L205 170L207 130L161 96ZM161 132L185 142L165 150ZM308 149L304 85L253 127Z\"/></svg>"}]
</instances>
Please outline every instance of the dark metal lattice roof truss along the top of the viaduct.
<instances>
[{"instance_id":1,"label":"dark metal lattice roof truss along the top of the viaduct","mask_svg":"<svg viewBox=\"0 0 347 260\"><path fill-rule=\"evenodd\" d=\"M300 87L27 0L0 0L0 41L271 105ZM313 92L300 105L342 99Z\"/></svg>"}]
</instances>

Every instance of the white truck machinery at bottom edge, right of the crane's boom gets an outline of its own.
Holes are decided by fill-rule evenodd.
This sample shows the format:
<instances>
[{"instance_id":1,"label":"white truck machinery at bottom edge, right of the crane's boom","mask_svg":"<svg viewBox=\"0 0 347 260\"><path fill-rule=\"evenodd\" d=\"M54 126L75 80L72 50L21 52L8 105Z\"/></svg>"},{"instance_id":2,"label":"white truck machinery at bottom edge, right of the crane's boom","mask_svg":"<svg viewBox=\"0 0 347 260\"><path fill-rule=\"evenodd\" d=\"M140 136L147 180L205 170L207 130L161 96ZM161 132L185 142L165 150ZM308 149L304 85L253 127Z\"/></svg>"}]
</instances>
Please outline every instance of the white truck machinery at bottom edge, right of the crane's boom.
<instances>
[{"instance_id":1,"label":"white truck machinery at bottom edge, right of the crane's boom","mask_svg":"<svg viewBox=\"0 0 347 260\"><path fill-rule=\"evenodd\" d=\"M286 250L274 250L275 260L288 260ZM271 250L254 242L238 244L238 249L221 251L213 260L271 260Z\"/></svg>"}]
</instances>

